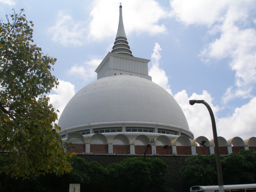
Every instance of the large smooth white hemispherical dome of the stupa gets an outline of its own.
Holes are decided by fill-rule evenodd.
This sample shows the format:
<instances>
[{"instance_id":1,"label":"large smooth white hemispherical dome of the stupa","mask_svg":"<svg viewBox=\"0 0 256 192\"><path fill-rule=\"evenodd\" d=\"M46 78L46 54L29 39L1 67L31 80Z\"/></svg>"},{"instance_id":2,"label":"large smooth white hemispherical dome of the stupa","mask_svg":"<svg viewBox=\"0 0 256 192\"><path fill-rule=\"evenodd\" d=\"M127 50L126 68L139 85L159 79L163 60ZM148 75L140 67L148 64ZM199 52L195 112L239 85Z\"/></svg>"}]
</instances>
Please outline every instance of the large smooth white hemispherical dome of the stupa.
<instances>
[{"instance_id":1,"label":"large smooth white hemispherical dome of the stupa","mask_svg":"<svg viewBox=\"0 0 256 192\"><path fill-rule=\"evenodd\" d=\"M175 99L156 83L134 75L114 75L85 86L67 104L58 125L64 130L102 122L154 122L189 131Z\"/></svg>"}]
</instances>

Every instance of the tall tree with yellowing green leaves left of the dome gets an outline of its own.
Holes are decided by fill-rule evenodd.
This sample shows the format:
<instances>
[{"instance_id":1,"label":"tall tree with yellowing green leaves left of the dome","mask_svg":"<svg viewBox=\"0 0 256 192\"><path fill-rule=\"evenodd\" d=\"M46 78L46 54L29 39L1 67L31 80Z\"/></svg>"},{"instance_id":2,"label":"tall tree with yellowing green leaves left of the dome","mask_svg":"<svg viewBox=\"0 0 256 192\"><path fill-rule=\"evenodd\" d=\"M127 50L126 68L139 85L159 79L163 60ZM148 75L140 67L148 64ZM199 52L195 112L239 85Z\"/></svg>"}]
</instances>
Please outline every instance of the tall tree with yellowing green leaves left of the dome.
<instances>
[{"instance_id":1,"label":"tall tree with yellowing green leaves left of the dome","mask_svg":"<svg viewBox=\"0 0 256 192\"><path fill-rule=\"evenodd\" d=\"M16 178L69 172L72 154L64 154L45 95L58 85L51 74L56 58L32 45L33 23L23 11L0 21L0 151L9 156L1 170Z\"/></svg>"}]
</instances>

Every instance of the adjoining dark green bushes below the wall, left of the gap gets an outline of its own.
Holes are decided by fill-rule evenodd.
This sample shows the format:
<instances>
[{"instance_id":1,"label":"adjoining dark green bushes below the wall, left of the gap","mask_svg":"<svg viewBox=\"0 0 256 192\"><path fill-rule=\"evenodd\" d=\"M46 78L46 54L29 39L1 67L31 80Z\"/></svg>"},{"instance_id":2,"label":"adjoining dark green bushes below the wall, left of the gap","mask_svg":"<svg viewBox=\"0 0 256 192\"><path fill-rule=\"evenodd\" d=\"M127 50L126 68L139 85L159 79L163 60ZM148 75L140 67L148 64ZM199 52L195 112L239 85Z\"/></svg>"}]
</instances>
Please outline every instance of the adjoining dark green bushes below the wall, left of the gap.
<instances>
[{"instance_id":1,"label":"adjoining dark green bushes below the wall, left of the gap","mask_svg":"<svg viewBox=\"0 0 256 192\"><path fill-rule=\"evenodd\" d=\"M167 166L161 159L147 158L143 161L143 157L128 158L106 168L96 161L87 163L80 157L73 157L69 161L73 170L62 177L66 183L80 183L81 191L161 192L167 187ZM77 175L76 180L72 180L74 174Z\"/></svg>"}]
</instances>

